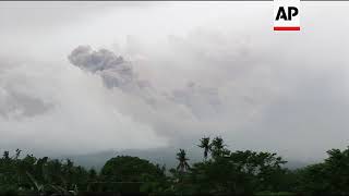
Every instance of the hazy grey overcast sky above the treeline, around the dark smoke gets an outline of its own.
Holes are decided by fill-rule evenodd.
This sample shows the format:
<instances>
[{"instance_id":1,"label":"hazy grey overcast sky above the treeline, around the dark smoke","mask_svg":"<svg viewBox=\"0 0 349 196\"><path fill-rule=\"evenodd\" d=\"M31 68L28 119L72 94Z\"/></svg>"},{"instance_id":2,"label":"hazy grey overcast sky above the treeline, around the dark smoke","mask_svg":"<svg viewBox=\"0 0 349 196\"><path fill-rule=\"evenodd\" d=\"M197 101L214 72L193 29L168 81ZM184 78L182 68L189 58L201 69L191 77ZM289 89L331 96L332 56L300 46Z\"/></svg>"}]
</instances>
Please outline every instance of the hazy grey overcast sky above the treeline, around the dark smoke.
<instances>
[{"instance_id":1,"label":"hazy grey overcast sky above the treeline, around the dark smoke","mask_svg":"<svg viewBox=\"0 0 349 196\"><path fill-rule=\"evenodd\" d=\"M302 2L302 30L276 33L273 2L0 2L0 148L75 154L221 135L231 148L321 158L349 139L348 9ZM110 85L120 66L74 65L79 46L98 66L113 57L100 49L121 56L132 78Z\"/></svg>"}]
</instances>

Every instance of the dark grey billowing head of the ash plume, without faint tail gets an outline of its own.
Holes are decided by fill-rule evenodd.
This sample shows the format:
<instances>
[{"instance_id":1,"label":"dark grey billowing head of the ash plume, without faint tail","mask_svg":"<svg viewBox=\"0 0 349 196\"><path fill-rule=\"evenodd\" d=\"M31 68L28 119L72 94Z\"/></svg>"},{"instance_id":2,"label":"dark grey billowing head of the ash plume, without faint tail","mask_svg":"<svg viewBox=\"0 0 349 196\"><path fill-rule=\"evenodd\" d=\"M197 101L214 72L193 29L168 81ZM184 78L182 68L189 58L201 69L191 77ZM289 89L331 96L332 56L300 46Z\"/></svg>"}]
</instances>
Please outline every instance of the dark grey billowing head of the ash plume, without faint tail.
<instances>
[{"instance_id":1,"label":"dark grey billowing head of the ash plume, without faint tail","mask_svg":"<svg viewBox=\"0 0 349 196\"><path fill-rule=\"evenodd\" d=\"M80 69L100 75L106 87L117 87L154 105L155 89L147 81L137 78L131 62L116 56L112 51L107 49L94 51L89 46L79 46L68 59Z\"/></svg>"}]
</instances>

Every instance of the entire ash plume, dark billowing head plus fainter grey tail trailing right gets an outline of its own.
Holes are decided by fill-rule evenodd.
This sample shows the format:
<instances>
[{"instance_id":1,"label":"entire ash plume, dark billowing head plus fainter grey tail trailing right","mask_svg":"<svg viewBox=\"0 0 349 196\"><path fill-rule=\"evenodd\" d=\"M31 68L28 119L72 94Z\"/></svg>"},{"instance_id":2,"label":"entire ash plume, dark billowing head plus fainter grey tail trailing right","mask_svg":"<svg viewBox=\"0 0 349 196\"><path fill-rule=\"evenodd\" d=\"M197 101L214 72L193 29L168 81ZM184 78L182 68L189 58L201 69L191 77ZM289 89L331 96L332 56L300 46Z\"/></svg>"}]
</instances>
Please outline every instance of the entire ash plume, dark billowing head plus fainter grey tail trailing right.
<instances>
[{"instance_id":1,"label":"entire ash plume, dark billowing head plus fainter grey tail trailing right","mask_svg":"<svg viewBox=\"0 0 349 196\"><path fill-rule=\"evenodd\" d=\"M107 49L94 51L89 46L80 46L68 58L80 69L100 75L106 87L117 87L135 95L154 108L164 101L167 105L184 106L198 119L209 118L221 110L217 88L202 87L191 82L185 87L159 93L148 81L137 78L131 62Z\"/></svg>"}]
</instances>

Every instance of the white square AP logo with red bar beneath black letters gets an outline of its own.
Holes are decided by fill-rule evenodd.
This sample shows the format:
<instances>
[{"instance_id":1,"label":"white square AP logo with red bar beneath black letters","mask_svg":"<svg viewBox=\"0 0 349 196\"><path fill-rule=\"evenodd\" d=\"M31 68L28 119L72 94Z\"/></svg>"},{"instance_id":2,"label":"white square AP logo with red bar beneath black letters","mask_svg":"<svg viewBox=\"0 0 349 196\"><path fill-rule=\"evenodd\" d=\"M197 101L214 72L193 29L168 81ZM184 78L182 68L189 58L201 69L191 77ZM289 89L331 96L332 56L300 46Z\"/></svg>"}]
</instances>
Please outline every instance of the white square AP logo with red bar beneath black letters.
<instances>
[{"instance_id":1,"label":"white square AP logo with red bar beneath black letters","mask_svg":"<svg viewBox=\"0 0 349 196\"><path fill-rule=\"evenodd\" d=\"M274 0L274 30L300 30L300 0Z\"/></svg>"}]
</instances>

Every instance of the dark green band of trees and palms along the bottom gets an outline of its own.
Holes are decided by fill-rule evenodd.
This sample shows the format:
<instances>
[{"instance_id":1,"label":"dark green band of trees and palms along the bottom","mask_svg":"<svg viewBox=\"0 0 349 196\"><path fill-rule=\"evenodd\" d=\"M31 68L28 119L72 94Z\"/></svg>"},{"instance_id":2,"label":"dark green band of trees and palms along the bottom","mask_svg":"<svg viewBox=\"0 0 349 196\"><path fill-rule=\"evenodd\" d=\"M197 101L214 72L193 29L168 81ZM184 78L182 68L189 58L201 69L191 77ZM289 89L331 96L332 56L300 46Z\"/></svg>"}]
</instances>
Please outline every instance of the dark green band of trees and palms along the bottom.
<instances>
[{"instance_id":1,"label":"dark green band of trees and palms along the bottom","mask_svg":"<svg viewBox=\"0 0 349 196\"><path fill-rule=\"evenodd\" d=\"M349 148L328 150L323 162L289 170L276 154L231 151L220 137L204 137L197 146L203 149L201 162L190 166L185 150L180 149L176 155L178 167L170 170L129 156L112 158L96 171L74 166L69 159L24 157L19 149L12 156L4 151L0 159L0 194L349 194Z\"/></svg>"}]
</instances>

